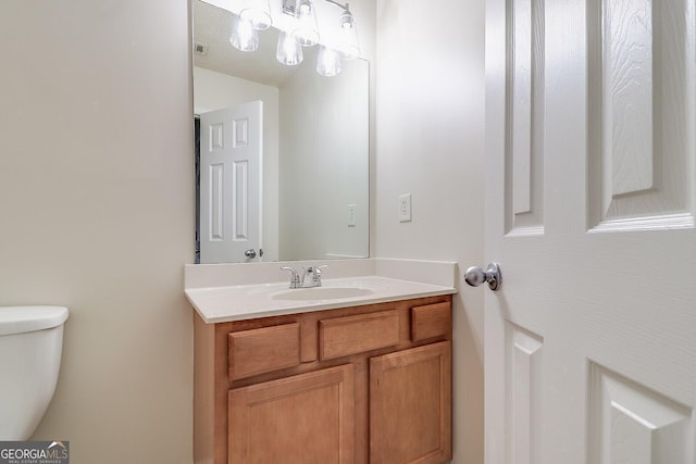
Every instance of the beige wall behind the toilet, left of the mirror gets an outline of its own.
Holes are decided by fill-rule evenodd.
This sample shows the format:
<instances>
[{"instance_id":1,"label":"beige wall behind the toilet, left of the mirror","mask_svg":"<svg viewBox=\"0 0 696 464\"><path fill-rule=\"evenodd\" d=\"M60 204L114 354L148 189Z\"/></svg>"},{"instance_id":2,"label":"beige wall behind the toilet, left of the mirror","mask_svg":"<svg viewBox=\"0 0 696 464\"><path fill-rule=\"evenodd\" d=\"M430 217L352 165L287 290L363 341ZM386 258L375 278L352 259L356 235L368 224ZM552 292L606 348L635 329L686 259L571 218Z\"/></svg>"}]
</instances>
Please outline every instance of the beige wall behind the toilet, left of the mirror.
<instances>
[{"instance_id":1,"label":"beige wall behind the toilet, left of the mirror","mask_svg":"<svg viewBox=\"0 0 696 464\"><path fill-rule=\"evenodd\" d=\"M0 2L0 305L70 308L35 439L191 462L186 0Z\"/></svg>"}]
</instances>

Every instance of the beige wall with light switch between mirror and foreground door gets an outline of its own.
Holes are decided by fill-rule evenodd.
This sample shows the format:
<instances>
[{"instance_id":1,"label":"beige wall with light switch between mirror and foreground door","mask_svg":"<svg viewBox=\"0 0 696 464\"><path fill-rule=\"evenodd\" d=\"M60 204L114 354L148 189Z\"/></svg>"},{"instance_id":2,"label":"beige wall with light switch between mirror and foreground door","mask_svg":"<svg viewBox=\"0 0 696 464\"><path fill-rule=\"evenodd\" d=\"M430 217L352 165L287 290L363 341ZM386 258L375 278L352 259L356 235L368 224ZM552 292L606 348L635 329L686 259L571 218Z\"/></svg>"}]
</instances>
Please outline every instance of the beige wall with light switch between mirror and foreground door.
<instances>
[{"instance_id":1,"label":"beige wall with light switch between mirror and foreground door","mask_svg":"<svg viewBox=\"0 0 696 464\"><path fill-rule=\"evenodd\" d=\"M484 258L484 2L378 0L376 72L375 254L456 261L461 281ZM483 463L483 296L455 297L457 464Z\"/></svg>"}]
</instances>

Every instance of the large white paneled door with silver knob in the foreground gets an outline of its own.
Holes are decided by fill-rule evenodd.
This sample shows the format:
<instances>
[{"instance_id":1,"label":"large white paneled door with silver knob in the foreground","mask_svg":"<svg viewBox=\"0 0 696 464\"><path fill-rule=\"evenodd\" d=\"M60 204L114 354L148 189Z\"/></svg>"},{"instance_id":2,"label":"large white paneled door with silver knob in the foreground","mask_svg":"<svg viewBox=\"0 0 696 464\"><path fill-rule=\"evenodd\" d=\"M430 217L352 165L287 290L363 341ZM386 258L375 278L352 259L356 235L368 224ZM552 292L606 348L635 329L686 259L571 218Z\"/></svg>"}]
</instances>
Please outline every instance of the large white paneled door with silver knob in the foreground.
<instances>
[{"instance_id":1,"label":"large white paneled door with silver knob in the foreground","mask_svg":"<svg viewBox=\"0 0 696 464\"><path fill-rule=\"evenodd\" d=\"M486 2L486 464L696 462L695 17Z\"/></svg>"}]
</instances>

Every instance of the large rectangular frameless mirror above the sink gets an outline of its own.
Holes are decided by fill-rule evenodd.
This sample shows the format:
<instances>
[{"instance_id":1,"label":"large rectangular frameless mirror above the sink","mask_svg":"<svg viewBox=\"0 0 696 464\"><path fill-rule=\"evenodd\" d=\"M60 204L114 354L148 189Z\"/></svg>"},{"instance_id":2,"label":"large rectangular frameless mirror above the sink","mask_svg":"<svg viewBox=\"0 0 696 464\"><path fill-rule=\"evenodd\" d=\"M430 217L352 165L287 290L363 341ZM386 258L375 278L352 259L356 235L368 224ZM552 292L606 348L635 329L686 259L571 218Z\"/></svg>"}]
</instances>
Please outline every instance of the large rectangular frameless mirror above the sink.
<instances>
[{"instance_id":1,"label":"large rectangular frameless mirror above the sink","mask_svg":"<svg viewBox=\"0 0 696 464\"><path fill-rule=\"evenodd\" d=\"M318 46L287 66L274 27L241 52L234 13L192 0L192 17L197 262L368 258L369 63L321 76Z\"/></svg>"}]
</instances>

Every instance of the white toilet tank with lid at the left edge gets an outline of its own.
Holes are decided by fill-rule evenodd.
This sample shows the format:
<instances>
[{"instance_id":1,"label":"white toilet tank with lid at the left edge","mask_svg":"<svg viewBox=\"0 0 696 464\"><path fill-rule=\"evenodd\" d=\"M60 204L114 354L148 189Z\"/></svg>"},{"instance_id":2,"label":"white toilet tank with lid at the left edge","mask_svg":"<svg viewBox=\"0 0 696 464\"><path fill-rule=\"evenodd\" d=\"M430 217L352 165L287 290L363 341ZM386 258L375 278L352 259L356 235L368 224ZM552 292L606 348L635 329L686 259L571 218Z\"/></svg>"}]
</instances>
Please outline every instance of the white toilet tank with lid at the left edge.
<instances>
[{"instance_id":1,"label":"white toilet tank with lid at the left edge","mask_svg":"<svg viewBox=\"0 0 696 464\"><path fill-rule=\"evenodd\" d=\"M28 439L58 381L67 308L0 306L0 441Z\"/></svg>"}]
</instances>

